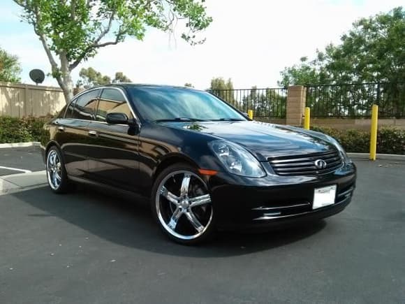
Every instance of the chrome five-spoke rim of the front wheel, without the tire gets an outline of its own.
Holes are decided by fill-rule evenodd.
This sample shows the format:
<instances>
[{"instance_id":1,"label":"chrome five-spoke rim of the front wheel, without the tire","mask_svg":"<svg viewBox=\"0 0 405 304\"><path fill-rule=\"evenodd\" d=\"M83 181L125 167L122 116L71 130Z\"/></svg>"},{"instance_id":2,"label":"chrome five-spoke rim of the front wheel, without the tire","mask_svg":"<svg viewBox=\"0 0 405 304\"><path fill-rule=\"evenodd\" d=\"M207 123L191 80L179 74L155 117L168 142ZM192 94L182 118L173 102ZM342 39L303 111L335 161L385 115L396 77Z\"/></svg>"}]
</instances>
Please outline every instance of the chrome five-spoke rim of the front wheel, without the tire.
<instances>
[{"instance_id":1,"label":"chrome five-spoke rim of the front wheel, without the tire","mask_svg":"<svg viewBox=\"0 0 405 304\"><path fill-rule=\"evenodd\" d=\"M159 222L175 238L198 238L212 222L207 185L193 172L175 171L163 178L155 203Z\"/></svg>"}]
</instances>

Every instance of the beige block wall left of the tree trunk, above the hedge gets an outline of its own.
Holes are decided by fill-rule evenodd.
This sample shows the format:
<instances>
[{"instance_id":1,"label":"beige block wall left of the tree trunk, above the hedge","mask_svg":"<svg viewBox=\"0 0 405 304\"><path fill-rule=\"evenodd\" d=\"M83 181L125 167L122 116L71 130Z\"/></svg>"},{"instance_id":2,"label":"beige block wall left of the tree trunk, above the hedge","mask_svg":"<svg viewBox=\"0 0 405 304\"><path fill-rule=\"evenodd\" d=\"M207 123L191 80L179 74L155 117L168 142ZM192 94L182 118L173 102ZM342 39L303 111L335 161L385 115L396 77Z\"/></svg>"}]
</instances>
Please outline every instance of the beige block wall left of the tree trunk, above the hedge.
<instances>
[{"instance_id":1,"label":"beige block wall left of the tree trunk, above the hedge","mask_svg":"<svg viewBox=\"0 0 405 304\"><path fill-rule=\"evenodd\" d=\"M64 94L58 87L0 82L1 116L53 115L64 105Z\"/></svg>"}]
</instances>

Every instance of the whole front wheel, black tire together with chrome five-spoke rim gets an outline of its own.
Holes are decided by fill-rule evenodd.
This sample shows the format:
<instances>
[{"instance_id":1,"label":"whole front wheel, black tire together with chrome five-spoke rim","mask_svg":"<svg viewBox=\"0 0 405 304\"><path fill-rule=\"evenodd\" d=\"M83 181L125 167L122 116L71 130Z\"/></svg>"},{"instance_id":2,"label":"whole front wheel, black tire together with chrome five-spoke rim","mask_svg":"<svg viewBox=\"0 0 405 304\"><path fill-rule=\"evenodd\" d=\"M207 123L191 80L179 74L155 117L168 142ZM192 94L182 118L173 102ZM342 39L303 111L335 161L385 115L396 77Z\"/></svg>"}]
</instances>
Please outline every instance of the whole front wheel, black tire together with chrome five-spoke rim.
<instances>
[{"instance_id":1,"label":"whole front wheel, black tire together with chrome five-spoke rim","mask_svg":"<svg viewBox=\"0 0 405 304\"><path fill-rule=\"evenodd\" d=\"M187 187L183 187L185 184ZM189 164L173 164L159 173L152 187L151 206L163 233L177 243L196 245L214 235L209 189L196 168Z\"/></svg>"}]
</instances>

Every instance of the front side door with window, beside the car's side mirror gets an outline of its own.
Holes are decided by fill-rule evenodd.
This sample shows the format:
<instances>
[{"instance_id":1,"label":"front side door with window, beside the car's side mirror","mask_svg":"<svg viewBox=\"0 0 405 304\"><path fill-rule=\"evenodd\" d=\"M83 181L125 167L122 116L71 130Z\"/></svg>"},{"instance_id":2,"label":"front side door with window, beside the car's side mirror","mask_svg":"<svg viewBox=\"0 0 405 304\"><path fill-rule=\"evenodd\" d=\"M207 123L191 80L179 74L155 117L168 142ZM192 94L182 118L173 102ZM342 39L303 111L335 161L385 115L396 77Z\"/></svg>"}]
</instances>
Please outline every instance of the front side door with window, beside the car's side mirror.
<instances>
[{"instance_id":1,"label":"front side door with window, beside the car's side mirror","mask_svg":"<svg viewBox=\"0 0 405 304\"><path fill-rule=\"evenodd\" d=\"M115 187L137 191L138 134L126 124L107 124L108 113L133 113L121 89L103 89L96 110L96 120L89 124L92 133L89 145L89 173L91 179Z\"/></svg>"}]
</instances>

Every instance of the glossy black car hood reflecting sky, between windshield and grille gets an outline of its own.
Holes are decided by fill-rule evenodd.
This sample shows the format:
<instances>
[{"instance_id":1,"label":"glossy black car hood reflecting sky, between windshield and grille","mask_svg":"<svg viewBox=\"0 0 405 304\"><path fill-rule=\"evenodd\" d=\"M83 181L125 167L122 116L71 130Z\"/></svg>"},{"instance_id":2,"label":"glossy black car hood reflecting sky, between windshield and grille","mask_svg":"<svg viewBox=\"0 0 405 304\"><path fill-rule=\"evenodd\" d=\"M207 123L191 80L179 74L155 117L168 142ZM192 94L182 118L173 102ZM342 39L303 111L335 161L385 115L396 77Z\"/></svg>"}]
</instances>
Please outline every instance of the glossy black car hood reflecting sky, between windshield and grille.
<instances>
[{"instance_id":1,"label":"glossy black car hood reflecting sky, between windshield and grille","mask_svg":"<svg viewBox=\"0 0 405 304\"><path fill-rule=\"evenodd\" d=\"M293 126L263 122L164 122L170 128L206 133L242 145L259 161L267 157L326 152L334 145L325 138Z\"/></svg>"}]
</instances>

